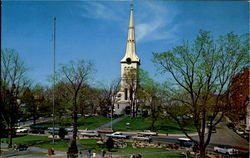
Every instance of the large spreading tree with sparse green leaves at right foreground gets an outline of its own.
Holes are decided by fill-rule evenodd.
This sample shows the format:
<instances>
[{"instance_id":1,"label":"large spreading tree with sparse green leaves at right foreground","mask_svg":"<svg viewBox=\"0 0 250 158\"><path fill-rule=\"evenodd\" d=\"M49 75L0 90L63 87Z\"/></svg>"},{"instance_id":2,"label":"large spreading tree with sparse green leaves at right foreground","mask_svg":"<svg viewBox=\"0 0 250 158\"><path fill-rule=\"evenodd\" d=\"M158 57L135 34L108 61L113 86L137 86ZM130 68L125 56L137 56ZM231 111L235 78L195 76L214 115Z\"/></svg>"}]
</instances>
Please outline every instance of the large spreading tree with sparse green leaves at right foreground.
<instances>
[{"instance_id":1,"label":"large spreading tree with sparse green leaves at right foreground","mask_svg":"<svg viewBox=\"0 0 250 158\"><path fill-rule=\"evenodd\" d=\"M230 81L248 63L248 41L248 35L234 33L214 40L209 32L200 31L191 44L184 42L167 52L153 53L153 61L159 70L171 76L166 111L184 134L195 141L183 128L186 117L193 119L202 158L205 157L212 128L229 108ZM211 125L207 138L206 122Z\"/></svg>"}]
</instances>

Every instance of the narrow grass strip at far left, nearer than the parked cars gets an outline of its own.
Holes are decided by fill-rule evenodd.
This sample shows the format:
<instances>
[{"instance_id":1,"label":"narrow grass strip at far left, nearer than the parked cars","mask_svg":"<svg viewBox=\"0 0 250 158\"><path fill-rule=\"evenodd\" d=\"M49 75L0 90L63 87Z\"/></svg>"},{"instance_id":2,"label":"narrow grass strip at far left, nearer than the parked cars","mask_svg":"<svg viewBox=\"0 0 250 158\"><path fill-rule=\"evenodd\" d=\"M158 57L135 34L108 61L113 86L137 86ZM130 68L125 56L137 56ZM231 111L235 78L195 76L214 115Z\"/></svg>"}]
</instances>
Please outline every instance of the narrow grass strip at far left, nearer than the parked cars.
<instances>
[{"instance_id":1,"label":"narrow grass strip at far left, nearer than the parked cars","mask_svg":"<svg viewBox=\"0 0 250 158\"><path fill-rule=\"evenodd\" d=\"M6 142L8 139L3 138L4 142ZM12 139L13 144L32 144L38 141L44 141L44 140L51 140L51 138L48 138L47 136L19 136Z\"/></svg>"}]
</instances>

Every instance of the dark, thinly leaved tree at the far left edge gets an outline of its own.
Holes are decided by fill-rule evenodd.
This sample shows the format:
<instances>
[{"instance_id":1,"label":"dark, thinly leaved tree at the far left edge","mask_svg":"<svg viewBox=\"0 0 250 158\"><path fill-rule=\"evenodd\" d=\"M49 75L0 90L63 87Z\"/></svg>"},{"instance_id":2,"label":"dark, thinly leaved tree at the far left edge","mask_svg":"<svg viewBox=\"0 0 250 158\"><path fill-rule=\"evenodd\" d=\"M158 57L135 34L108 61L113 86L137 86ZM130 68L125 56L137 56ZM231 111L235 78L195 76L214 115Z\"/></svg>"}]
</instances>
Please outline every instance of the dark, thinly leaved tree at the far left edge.
<instances>
[{"instance_id":1,"label":"dark, thinly leaved tree at the far left edge","mask_svg":"<svg viewBox=\"0 0 250 158\"><path fill-rule=\"evenodd\" d=\"M9 147L12 147L12 137L15 124L19 118L19 108L23 91L29 86L26 77L27 67L14 49L4 49L2 52L2 83L1 83L1 119L8 129Z\"/></svg>"}]
</instances>

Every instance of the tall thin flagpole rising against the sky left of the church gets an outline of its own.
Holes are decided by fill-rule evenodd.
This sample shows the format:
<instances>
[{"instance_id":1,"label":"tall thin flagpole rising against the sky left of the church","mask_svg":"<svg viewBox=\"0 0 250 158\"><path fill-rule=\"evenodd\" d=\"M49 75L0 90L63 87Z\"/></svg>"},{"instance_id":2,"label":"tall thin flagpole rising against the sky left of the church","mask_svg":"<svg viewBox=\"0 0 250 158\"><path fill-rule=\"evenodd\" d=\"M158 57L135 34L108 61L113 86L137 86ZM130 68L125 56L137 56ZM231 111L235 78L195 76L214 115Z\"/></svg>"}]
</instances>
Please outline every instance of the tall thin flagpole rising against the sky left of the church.
<instances>
[{"instance_id":1,"label":"tall thin flagpole rising against the sky left of the church","mask_svg":"<svg viewBox=\"0 0 250 158\"><path fill-rule=\"evenodd\" d=\"M54 51L53 51L53 144L55 144L55 72L56 72L56 17L54 17Z\"/></svg>"}]
</instances>

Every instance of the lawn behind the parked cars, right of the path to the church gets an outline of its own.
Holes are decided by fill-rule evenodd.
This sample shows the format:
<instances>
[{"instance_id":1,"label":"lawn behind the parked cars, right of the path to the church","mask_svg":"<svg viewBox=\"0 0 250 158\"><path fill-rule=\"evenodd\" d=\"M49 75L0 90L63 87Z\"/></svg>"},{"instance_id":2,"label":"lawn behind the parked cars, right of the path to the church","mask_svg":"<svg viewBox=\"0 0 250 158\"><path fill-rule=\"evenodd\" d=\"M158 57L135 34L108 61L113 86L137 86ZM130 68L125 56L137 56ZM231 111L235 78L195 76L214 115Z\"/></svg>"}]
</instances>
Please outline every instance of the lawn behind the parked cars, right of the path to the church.
<instances>
[{"instance_id":1,"label":"lawn behind the parked cars, right of the path to the church","mask_svg":"<svg viewBox=\"0 0 250 158\"><path fill-rule=\"evenodd\" d=\"M126 127L126 123L130 123L130 128ZM142 131L145 129L150 129L151 118L130 118L126 117L124 120L113 125L113 129L116 131ZM174 120L170 119L159 119L155 122L156 131L159 133L169 133L169 134L180 134L182 131L179 129L178 125ZM192 125L192 120L187 120L187 125L185 127L188 133L196 132L194 126Z\"/></svg>"}]
</instances>

